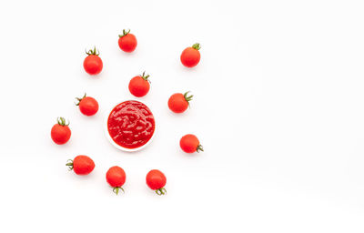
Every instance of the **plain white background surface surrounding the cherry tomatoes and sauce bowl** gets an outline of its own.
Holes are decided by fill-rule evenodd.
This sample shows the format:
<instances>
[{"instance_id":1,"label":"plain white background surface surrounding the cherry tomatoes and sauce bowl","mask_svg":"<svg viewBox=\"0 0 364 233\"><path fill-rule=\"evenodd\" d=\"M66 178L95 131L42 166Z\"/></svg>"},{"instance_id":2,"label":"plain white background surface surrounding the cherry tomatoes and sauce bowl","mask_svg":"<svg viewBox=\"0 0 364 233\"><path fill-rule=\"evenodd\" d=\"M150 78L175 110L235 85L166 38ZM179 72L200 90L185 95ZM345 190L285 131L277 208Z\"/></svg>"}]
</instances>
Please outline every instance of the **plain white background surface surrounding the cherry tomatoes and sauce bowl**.
<instances>
[{"instance_id":1,"label":"plain white background surface surrounding the cherry tomatoes and sauce bowl","mask_svg":"<svg viewBox=\"0 0 364 233\"><path fill-rule=\"evenodd\" d=\"M153 2L153 3L152 3ZM363 232L364 33L362 1L2 1L1 232ZM130 28L133 54L117 46ZM202 46L187 69L181 51ZM86 75L96 46L100 76ZM126 154L104 136L108 108L142 98L157 117L145 150ZM168 97L195 95L185 114ZM85 117L74 98L100 105ZM64 146L50 138L71 121ZM196 134L205 152L187 155ZM94 172L68 172L86 154ZM126 193L107 186L126 170ZM167 176L167 196L147 171Z\"/></svg>"}]
</instances>

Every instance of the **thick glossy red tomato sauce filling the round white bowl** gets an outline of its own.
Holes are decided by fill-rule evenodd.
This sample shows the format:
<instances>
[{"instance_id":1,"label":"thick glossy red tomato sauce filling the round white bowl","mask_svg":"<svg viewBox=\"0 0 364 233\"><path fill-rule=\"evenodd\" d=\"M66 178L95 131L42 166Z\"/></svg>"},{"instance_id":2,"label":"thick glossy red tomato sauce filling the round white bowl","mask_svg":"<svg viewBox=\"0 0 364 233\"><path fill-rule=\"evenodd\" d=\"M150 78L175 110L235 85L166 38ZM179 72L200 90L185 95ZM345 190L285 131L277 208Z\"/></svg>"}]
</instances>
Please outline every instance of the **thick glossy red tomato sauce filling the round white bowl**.
<instances>
[{"instance_id":1,"label":"thick glossy red tomato sauce filling the round white bowl","mask_svg":"<svg viewBox=\"0 0 364 233\"><path fill-rule=\"evenodd\" d=\"M153 137L155 128L150 109L135 100L118 104L107 118L110 137L120 147L129 149L144 146Z\"/></svg>"}]
</instances>

